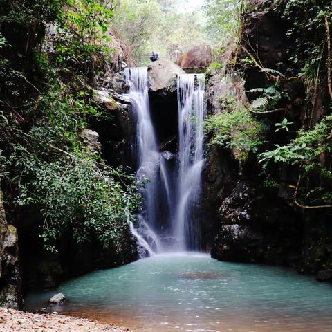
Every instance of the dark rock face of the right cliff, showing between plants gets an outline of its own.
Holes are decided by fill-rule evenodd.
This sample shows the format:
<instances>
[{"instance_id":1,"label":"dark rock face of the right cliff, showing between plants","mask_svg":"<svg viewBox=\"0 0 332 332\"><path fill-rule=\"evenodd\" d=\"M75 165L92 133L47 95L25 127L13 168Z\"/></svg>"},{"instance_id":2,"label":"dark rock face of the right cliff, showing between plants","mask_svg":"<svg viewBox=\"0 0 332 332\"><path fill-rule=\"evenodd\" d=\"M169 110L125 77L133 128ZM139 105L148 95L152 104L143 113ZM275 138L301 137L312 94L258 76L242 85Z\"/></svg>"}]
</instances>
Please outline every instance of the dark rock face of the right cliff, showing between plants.
<instances>
[{"instance_id":1,"label":"dark rock face of the right cliff, showing between plants","mask_svg":"<svg viewBox=\"0 0 332 332\"><path fill-rule=\"evenodd\" d=\"M286 63L288 22L271 10L268 1L250 1L256 9L243 17L246 32L238 59L249 57L246 50L255 45L257 57L265 68L276 68ZM245 50L246 49L246 50ZM246 102L246 90L266 86L266 76L256 66L241 68L246 81L228 84L223 75L212 75L208 85L208 109L219 113L223 100L231 97ZM294 130L300 129L306 113L305 87L299 80L280 82L289 96L284 106ZM324 110L324 89L319 89L313 109L313 123ZM283 101L282 101L283 102ZM285 105L286 104L286 105ZM278 118L270 116L271 121ZM277 137L282 140L282 137ZM274 129L268 140L275 142ZM272 147L271 147L272 149ZM322 156L324 158L324 156ZM315 274L321 281L332 281L332 224L331 213L297 208L294 203L294 184L299 169L284 166L276 169L279 187L267 187L257 160L248 158L239 165L231 149L210 147L204 176L205 213L212 223L209 246L212 257L224 261L255 262L293 266L301 273Z\"/></svg>"}]
</instances>

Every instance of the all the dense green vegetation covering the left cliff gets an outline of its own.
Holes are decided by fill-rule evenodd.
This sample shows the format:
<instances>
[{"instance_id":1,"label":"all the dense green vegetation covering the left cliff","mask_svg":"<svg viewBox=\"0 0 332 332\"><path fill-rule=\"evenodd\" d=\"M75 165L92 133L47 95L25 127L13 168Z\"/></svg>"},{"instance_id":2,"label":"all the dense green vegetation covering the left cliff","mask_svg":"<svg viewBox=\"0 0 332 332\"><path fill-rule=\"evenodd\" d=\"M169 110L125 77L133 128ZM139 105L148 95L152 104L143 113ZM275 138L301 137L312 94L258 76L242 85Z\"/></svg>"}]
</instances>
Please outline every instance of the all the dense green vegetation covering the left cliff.
<instances>
[{"instance_id":1,"label":"all the dense green vegetation covering the left cliff","mask_svg":"<svg viewBox=\"0 0 332 332\"><path fill-rule=\"evenodd\" d=\"M94 104L91 89L111 52L112 17L92 0L1 6L1 182L8 205L39 208L48 250L63 232L116 247L137 208L133 176L105 165L82 134L90 120L112 116ZM54 37L44 37L47 24ZM10 44L8 26L27 35L22 44Z\"/></svg>"}]
</instances>

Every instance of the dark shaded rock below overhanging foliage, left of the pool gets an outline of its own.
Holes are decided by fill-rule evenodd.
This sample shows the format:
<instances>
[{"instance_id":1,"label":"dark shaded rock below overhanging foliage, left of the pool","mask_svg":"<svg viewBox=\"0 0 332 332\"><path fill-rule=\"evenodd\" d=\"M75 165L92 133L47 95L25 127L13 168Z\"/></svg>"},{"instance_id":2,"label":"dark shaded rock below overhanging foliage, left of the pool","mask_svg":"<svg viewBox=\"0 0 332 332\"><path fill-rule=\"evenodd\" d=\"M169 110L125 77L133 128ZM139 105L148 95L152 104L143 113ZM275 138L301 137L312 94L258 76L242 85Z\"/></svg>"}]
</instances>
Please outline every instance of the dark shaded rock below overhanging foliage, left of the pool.
<instances>
[{"instance_id":1,"label":"dark shaded rock below overhanging foliage, left of the pool","mask_svg":"<svg viewBox=\"0 0 332 332\"><path fill-rule=\"evenodd\" d=\"M50 289L64 280L89 273L100 268L113 268L138 259L136 241L127 226L118 246L102 248L97 241L77 245L71 234L64 234L55 254L45 252L39 239L38 223L19 228L21 274L24 292L31 289Z\"/></svg>"}]
</instances>

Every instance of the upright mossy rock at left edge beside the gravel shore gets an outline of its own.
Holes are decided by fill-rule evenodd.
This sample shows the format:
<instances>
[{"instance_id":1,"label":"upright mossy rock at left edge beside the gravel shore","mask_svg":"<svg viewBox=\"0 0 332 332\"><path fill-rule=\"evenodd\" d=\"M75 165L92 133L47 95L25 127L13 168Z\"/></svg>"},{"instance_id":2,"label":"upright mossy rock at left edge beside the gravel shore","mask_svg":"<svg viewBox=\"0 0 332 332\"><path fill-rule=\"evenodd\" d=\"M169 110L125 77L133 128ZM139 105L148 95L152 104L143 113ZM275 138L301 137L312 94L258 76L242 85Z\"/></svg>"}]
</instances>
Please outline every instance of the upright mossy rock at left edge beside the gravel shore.
<instances>
[{"instance_id":1,"label":"upright mossy rock at left edge beside the gravel shore","mask_svg":"<svg viewBox=\"0 0 332 332\"><path fill-rule=\"evenodd\" d=\"M0 190L0 306L21 308L21 276L17 231L6 221Z\"/></svg>"}]
</instances>

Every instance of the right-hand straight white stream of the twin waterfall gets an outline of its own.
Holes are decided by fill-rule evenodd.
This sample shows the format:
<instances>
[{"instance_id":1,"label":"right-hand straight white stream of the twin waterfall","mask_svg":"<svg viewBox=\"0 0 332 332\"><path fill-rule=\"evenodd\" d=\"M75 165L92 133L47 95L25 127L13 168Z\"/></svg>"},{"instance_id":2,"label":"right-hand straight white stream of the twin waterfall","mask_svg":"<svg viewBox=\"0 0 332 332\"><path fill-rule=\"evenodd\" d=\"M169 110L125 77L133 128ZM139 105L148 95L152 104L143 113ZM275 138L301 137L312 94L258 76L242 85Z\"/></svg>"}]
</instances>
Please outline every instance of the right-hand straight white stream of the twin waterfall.
<instances>
[{"instance_id":1,"label":"right-hand straight white stream of the twin waterfall","mask_svg":"<svg viewBox=\"0 0 332 332\"><path fill-rule=\"evenodd\" d=\"M178 181L175 229L181 249L199 249L194 204L201 194L205 74L178 76Z\"/></svg>"}]
</instances>

